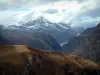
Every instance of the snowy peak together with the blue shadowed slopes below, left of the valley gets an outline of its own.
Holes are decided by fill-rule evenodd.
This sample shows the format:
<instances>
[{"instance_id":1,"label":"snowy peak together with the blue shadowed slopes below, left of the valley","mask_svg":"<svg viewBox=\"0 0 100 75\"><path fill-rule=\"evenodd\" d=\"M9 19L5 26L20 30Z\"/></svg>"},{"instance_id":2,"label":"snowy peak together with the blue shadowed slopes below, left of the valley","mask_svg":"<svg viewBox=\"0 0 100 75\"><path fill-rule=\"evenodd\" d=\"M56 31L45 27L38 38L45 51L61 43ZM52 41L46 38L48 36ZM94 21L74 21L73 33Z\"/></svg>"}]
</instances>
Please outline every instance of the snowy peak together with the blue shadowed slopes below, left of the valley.
<instances>
[{"instance_id":1,"label":"snowy peak together with the blue shadowed slopes below, left of the valley","mask_svg":"<svg viewBox=\"0 0 100 75\"><path fill-rule=\"evenodd\" d=\"M20 25L1 25L0 44L29 45L43 50L63 51L61 44L84 31L66 23L52 23L43 17Z\"/></svg>"}]
</instances>

